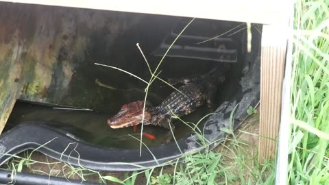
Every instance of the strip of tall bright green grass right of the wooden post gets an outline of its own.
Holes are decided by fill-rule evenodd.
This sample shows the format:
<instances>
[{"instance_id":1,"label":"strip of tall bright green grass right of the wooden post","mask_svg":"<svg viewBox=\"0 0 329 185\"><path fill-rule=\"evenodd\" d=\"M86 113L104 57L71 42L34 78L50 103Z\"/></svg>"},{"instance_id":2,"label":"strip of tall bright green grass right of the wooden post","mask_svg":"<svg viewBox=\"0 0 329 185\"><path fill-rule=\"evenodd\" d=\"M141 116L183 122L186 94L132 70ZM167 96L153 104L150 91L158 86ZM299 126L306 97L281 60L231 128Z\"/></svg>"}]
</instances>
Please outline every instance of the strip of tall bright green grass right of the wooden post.
<instances>
[{"instance_id":1,"label":"strip of tall bright green grass right of the wooden post","mask_svg":"<svg viewBox=\"0 0 329 185\"><path fill-rule=\"evenodd\" d=\"M297 1L289 184L329 184L329 1Z\"/></svg>"}]
</instances>

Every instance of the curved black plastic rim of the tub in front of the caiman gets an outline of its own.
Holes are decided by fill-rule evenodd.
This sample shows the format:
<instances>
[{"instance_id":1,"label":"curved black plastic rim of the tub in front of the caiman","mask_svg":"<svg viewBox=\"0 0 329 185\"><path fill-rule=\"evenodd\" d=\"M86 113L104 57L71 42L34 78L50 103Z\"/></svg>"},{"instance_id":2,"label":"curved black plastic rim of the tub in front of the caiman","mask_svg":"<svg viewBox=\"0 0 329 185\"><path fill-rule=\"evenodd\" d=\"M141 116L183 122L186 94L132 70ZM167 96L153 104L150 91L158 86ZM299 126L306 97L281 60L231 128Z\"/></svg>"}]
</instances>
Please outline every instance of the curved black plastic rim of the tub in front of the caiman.
<instances>
[{"instance_id":1,"label":"curved black plastic rim of the tub in front of the caiman","mask_svg":"<svg viewBox=\"0 0 329 185\"><path fill-rule=\"evenodd\" d=\"M245 74L241 81L231 88L226 88L227 95L230 95L229 99L223 101L215 114L212 114L204 123L202 132L204 138L208 140L208 144L211 145L210 148L217 146L221 142L221 138L227 136L226 132L222 132L221 129L231 126L230 115L234 108L236 108L233 125L235 129L247 116L247 108L258 103L259 70L259 58L256 58L251 66L245 66ZM118 149L92 145L73 135L70 132L72 128L69 126L59 127L58 125L60 124L45 121L25 121L1 134L0 149L3 153L0 157L1 164L8 161L11 158L10 155L27 149L37 149L51 158L88 169L135 171L171 164L176 162L177 158L203 149L202 145L198 144L197 136L191 133L180 138L178 143L172 142L150 147L150 151L143 147L140 156L140 151L136 148ZM181 158L181 160L183 159Z\"/></svg>"}]
</instances>

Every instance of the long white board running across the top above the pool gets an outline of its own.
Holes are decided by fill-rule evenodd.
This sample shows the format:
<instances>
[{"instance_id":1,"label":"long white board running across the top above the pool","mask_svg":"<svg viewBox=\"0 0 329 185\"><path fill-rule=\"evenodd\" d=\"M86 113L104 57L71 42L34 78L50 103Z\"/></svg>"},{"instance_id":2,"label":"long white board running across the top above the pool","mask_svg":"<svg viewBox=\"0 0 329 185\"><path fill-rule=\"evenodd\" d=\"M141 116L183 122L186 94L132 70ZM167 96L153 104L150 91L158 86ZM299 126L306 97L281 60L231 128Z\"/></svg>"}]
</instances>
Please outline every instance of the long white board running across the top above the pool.
<instances>
[{"instance_id":1,"label":"long white board running across the top above the pool","mask_svg":"<svg viewBox=\"0 0 329 185\"><path fill-rule=\"evenodd\" d=\"M8 1L8 0L7 0ZM10 1L10 0L9 0ZM286 3L284 0L232 0L232 1L154 1L154 0L12 0L15 3L33 3L41 5L58 5L97 10L113 10L146 14L163 14L209 18L226 21L239 21L263 24L282 23Z\"/></svg>"}]
</instances>

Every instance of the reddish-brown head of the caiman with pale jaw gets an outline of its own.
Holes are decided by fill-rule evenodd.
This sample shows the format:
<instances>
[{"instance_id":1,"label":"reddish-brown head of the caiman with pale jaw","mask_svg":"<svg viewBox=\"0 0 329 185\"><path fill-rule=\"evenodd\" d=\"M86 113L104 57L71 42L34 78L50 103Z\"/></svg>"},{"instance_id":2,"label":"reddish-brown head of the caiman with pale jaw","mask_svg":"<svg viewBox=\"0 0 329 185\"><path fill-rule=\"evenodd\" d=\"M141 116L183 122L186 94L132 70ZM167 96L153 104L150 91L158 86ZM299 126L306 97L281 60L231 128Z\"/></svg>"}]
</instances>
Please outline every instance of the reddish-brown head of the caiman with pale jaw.
<instances>
[{"instance_id":1,"label":"reddish-brown head of the caiman with pale jaw","mask_svg":"<svg viewBox=\"0 0 329 185\"><path fill-rule=\"evenodd\" d=\"M142 123L144 101L134 101L122 106L120 112L108 119L108 125L113 129L130 127ZM149 105L145 105L144 123L151 120Z\"/></svg>"}]
</instances>

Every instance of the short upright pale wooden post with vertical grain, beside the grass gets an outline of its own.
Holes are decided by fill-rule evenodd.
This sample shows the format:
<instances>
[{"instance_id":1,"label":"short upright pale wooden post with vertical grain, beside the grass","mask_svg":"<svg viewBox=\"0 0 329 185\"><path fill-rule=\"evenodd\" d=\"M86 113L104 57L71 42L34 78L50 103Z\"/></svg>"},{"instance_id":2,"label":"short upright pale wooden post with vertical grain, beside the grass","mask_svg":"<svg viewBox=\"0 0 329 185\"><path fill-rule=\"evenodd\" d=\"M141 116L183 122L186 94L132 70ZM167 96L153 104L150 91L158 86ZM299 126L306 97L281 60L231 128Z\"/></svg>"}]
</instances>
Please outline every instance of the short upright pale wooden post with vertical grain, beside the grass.
<instances>
[{"instance_id":1,"label":"short upright pale wooden post with vertical grain, beside the grass","mask_svg":"<svg viewBox=\"0 0 329 185\"><path fill-rule=\"evenodd\" d=\"M258 156L260 163L276 154L287 49L287 33L284 30L286 29L278 26L263 26Z\"/></svg>"}]
</instances>

